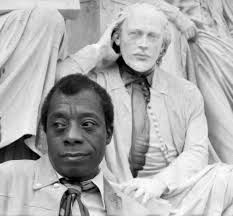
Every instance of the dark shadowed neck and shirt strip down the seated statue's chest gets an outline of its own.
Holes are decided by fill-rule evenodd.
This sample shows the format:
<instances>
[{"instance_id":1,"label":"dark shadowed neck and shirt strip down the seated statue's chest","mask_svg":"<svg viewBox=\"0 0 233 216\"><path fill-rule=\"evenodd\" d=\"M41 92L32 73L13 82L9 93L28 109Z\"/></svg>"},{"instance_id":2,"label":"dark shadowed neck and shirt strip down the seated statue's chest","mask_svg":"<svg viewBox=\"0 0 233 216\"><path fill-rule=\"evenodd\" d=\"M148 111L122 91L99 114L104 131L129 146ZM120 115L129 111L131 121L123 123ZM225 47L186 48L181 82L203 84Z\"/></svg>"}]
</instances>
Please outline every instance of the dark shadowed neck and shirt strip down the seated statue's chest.
<instances>
[{"instance_id":1,"label":"dark shadowed neck and shirt strip down the seated statue's chest","mask_svg":"<svg viewBox=\"0 0 233 216\"><path fill-rule=\"evenodd\" d=\"M130 170L133 177L144 170L150 143L150 124L147 114L147 104L150 101L150 90L154 68L143 74L134 71L118 61L123 83L131 97L132 104L132 144L129 152Z\"/></svg>"}]
</instances>

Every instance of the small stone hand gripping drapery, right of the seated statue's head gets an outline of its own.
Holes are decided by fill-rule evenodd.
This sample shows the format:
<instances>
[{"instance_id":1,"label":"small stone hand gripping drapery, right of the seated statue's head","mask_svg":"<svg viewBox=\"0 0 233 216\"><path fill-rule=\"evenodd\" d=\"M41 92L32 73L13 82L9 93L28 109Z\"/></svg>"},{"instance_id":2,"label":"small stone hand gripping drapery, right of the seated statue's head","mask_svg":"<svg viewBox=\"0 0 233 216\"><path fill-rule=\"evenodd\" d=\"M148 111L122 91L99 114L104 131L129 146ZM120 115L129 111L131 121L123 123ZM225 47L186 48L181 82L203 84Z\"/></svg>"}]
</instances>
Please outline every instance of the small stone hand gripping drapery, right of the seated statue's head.
<instances>
[{"instance_id":1,"label":"small stone hand gripping drapery, right of the seated statue's head","mask_svg":"<svg viewBox=\"0 0 233 216\"><path fill-rule=\"evenodd\" d=\"M197 35L197 27L191 19L179 12L175 22L177 27L184 34L187 40L195 40L195 37Z\"/></svg>"}]
</instances>

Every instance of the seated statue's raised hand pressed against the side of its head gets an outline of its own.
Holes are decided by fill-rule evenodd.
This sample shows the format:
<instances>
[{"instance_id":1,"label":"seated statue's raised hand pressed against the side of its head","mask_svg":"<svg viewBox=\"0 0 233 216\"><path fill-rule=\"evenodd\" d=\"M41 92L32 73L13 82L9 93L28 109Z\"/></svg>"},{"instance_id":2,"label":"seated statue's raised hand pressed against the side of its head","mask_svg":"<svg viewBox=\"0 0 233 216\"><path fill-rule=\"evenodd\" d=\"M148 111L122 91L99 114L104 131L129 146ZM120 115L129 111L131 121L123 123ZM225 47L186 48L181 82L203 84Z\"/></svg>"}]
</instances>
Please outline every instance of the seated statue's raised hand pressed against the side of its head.
<instances>
[{"instance_id":1,"label":"seated statue's raised hand pressed against the side of its head","mask_svg":"<svg viewBox=\"0 0 233 216\"><path fill-rule=\"evenodd\" d=\"M97 67L109 66L119 57L119 53L116 53L116 51L113 49L113 43L117 37L117 33L114 34L114 31L122 24L124 19L125 16L122 15L112 24L108 25L102 37L96 43L99 56Z\"/></svg>"}]
</instances>

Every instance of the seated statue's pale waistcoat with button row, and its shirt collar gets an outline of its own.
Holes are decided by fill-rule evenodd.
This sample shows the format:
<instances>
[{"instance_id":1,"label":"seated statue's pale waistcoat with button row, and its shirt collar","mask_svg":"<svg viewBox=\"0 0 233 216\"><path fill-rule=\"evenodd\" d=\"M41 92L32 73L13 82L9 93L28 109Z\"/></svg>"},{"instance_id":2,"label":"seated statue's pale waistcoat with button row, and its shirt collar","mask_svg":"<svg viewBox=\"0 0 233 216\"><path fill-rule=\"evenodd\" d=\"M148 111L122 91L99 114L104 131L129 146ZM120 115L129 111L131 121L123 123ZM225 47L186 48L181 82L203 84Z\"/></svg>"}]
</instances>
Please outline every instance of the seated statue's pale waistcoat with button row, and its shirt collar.
<instances>
[{"instance_id":1,"label":"seated statue's pale waistcoat with button row, and its shirt collar","mask_svg":"<svg viewBox=\"0 0 233 216\"><path fill-rule=\"evenodd\" d=\"M129 71L127 67L123 67L120 70L120 74L128 93L131 94L131 85L129 84L137 80L137 76L134 76L132 71ZM150 87L152 86L154 75L156 75L156 73L152 71L145 77ZM138 171L138 177L148 177L157 174L159 171L167 167L167 163L177 157L177 151L172 142L166 106L163 100L158 97L156 98L158 103L153 107L154 112L152 115L152 112L150 112L151 110L148 109L148 107L151 107L151 104L149 103L147 105L146 112L149 114L148 117L150 121L150 144L148 144L149 148L145 154L145 164L143 169ZM156 117L155 113L159 113L160 115ZM160 127L162 125L163 128L160 128L158 125L160 125ZM165 137L161 135L161 130L166 134Z\"/></svg>"}]
</instances>

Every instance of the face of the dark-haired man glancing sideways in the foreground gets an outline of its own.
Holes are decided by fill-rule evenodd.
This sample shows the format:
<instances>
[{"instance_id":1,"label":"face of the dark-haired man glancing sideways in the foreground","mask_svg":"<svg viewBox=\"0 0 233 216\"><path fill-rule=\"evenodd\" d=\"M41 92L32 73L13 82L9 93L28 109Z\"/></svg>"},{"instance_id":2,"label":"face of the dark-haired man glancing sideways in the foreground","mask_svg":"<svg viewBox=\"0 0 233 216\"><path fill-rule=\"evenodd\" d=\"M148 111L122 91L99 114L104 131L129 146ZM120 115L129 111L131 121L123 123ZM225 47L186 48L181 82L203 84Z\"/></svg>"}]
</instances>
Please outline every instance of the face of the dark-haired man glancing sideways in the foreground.
<instances>
[{"instance_id":1,"label":"face of the dark-haired man glancing sideways in the foreground","mask_svg":"<svg viewBox=\"0 0 233 216\"><path fill-rule=\"evenodd\" d=\"M79 180L93 178L111 134L95 92L53 95L48 111L47 142L50 161L59 174Z\"/></svg>"}]
</instances>

